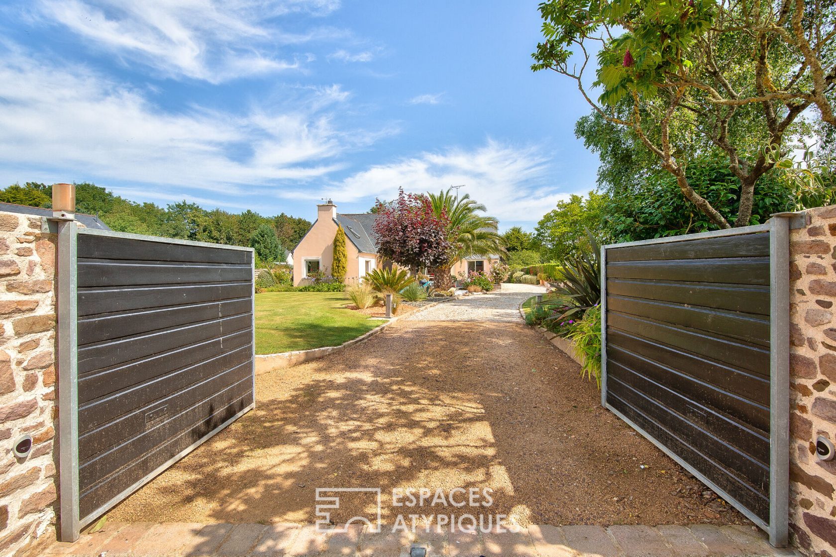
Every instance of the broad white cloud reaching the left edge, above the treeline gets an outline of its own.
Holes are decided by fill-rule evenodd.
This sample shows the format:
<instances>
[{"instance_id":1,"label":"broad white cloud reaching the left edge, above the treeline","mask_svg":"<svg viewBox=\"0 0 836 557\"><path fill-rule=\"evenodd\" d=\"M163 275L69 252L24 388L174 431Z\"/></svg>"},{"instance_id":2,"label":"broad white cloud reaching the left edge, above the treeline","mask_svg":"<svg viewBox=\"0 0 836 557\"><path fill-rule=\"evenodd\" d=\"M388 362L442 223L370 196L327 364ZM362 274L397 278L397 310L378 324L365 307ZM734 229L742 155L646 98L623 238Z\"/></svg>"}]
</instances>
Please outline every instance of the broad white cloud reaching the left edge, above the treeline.
<instances>
[{"instance_id":1,"label":"broad white cloud reaching the left edge, above the treeline","mask_svg":"<svg viewBox=\"0 0 836 557\"><path fill-rule=\"evenodd\" d=\"M0 50L0 168L6 182L36 169L64 180L283 195L277 185L292 182L298 193L343 168L342 155L392 133L340 129L334 113L348 94L339 86L295 93L242 114L165 112L143 92L87 68Z\"/></svg>"}]
</instances>

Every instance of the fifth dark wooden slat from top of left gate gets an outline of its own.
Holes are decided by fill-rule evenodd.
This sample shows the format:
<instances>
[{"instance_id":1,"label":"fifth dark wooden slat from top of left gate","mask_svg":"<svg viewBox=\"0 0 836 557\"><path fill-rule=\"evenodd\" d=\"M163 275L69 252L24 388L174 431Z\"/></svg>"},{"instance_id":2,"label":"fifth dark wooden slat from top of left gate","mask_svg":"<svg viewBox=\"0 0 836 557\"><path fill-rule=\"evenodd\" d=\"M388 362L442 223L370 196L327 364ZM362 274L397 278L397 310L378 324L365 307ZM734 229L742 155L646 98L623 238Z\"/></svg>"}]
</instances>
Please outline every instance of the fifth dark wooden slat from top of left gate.
<instances>
[{"instance_id":1,"label":"fifth dark wooden slat from top of left gate","mask_svg":"<svg viewBox=\"0 0 836 557\"><path fill-rule=\"evenodd\" d=\"M252 330L252 314L224 317L115 341L97 342L79 347L79 374L132 362L242 330Z\"/></svg>"}]
</instances>

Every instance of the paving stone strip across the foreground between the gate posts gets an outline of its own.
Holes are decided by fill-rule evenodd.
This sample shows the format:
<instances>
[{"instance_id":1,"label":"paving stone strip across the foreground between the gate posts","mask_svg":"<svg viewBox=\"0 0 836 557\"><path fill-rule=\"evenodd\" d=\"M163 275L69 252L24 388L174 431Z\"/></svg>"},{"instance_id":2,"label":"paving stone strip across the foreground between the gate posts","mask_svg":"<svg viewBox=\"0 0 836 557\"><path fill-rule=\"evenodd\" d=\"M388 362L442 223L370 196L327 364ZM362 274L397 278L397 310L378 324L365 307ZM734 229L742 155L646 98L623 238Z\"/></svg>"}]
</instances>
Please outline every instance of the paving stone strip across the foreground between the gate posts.
<instances>
[{"instance_id":1,"label":"paving stone strip across the foreground between the gate posts","mask_svg":"<svg viewBox=\"0 0 836 557\"><path fill-rule=\"evenodd\" d=\"M380 534L359 524L344 532L318 533L313 524L108 524L95 534L84 534L74 544L56 543L49 555L181 557L224 555L349 555L351 557L409 557L415 544L428 557L723 557L798 555L776 549L766 534L752 526L645 525L603 526L532 525L520 532L496 531L441 534L398 532L386 527Z\"/></svg>"}]
</instances>

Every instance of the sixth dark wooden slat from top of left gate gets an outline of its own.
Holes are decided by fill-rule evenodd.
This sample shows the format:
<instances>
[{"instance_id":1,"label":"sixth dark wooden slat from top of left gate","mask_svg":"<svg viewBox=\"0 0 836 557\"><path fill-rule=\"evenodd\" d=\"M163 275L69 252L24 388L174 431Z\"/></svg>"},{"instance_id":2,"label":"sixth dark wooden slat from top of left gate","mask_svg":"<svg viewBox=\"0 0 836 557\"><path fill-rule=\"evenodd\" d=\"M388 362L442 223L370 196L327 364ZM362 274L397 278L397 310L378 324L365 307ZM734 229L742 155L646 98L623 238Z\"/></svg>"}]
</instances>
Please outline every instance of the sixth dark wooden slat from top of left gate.
<instances>
[{"instance_id":1,"label":"sixth dark wooden slat from top of left gate","mask_svg":"<svg viewBox=\"0 0 836 557\"><path fill-rule=\"evenodd\" d=\"M247 346L252 346L252 331L249 329L79 376L79 405L84 406L85 403L142 382L152 381L181 367L188 367L224 352Z\"/></svg>"}]
</instances>

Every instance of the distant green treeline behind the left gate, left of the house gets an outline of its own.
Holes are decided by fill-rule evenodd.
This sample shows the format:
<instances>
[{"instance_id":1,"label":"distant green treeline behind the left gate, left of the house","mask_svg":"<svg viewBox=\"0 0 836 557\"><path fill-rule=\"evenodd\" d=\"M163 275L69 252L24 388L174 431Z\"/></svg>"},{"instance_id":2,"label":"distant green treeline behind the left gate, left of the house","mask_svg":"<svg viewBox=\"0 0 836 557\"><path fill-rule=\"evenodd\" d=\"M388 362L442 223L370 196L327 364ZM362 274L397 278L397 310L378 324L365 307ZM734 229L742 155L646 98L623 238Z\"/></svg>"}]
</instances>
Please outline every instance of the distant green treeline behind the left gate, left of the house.
<instances>
[{"instance_id":1,"label":"distant green treeline behind the left gate, left of the house","mask_svg":"<svg viewBox=\"0 0 836 557\"><path fill-rule=\"evenodd\" d=\"M52 206L52 186L26 182L0 190L0 201L31 207ZM99 220L120 232L166 236L181 240L209 241L229 246L249 246L261 225L276 232L279 244L293 250L310 228L310 221L282 213L262 216L252 210L240 214L222 209L205 210L185 200L162 208L154 203L135 203L84 182L75 185L75 205L79 213L97 215Z\"/></svg>"}]
</instances>

